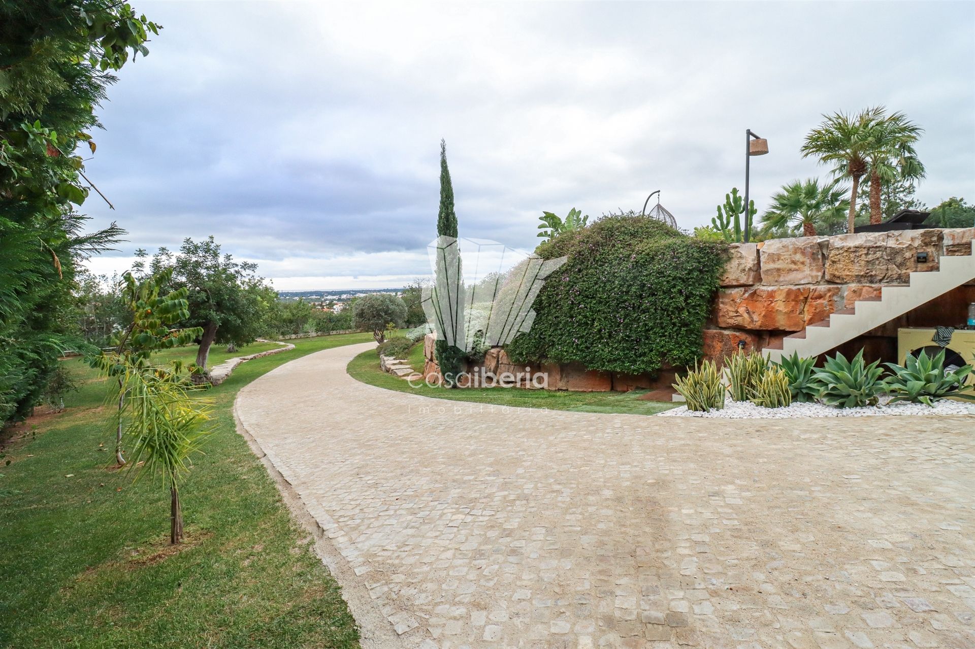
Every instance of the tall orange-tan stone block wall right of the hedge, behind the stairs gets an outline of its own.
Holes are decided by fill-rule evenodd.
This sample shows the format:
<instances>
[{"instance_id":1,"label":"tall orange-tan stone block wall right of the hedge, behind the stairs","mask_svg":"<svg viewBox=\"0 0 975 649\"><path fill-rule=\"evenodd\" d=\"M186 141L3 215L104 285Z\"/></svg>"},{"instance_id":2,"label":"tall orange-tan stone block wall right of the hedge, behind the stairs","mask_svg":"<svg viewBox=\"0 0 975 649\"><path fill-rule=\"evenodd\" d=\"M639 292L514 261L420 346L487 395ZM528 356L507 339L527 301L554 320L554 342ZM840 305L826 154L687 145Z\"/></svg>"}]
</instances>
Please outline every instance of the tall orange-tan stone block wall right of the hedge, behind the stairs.
<instances>
[{"instance_id":1,"label":"tall orange-tan stone block wall right of the hedge, behind the stairs","mask_svg":"<svg viewBox=\"0 0 975 649\"><path fill-rule=\"evenodd\" d=\"M720 361L737 349L739 341L746 349L761 349L853 308L857 300L878 298L882 286L907 284L912 272L938 270L943 254L971 254L973 235L975 228L928 229L732 245L704 330L704 355ZM918 260L918 253L926 260ZM961 286L934 300L930 309L925 305L867 337L895 337L898 325L921 321L964 322L970 292L970 286ZM896 346L896 341L890 344Z\"/></svg>"}]
</instances>

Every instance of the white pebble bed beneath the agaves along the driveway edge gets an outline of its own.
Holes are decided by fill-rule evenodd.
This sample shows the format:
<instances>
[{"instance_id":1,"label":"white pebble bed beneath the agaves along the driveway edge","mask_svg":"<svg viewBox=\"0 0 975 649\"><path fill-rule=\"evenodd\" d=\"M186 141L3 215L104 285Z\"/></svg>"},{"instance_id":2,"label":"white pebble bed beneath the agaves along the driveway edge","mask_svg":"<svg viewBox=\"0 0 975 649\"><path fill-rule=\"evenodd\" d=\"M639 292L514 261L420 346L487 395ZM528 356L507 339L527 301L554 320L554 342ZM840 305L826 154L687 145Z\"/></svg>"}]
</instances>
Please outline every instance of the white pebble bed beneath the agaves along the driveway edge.
<instances>
[{"instance_id":1,"label":"white pebble bed beneath the agaves along the driveway edge","mask_svg":"<svg viewBox=\"0 0 975 649\"><path fill-rule=\"evenodd\" d=\"M933 406L923 403L885 403L858 408L837 408L822 403L793 403L784 408L765 408L751 401L724 401L721 410L693 412L686 405L658 412L658 417L712 417L715 419L788 419L791 417L873 417L878 415L959 415L975 414L975 404L962 401L936 401ZM975 403L975 402L973 402Z\"/></svg>"}]
</instances>

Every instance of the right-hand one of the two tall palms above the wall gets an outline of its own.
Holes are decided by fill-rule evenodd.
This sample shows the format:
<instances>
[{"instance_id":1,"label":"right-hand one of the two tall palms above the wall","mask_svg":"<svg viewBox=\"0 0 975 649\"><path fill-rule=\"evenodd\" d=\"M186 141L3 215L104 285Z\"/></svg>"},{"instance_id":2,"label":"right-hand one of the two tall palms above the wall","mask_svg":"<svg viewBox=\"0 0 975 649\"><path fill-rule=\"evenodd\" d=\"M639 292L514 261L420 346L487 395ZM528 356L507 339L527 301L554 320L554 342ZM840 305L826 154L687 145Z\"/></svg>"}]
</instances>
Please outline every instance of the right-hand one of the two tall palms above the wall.
<instances>
[{"instance_id":1,"label":"right-hand one of the two tall palms above the wall","mask_svg":"<svg viewBox=\"0 0 975 649\"><path fill-rule=\"evenodd\" d=\"M880 190L883 183L898 179L917 180L924 177L924 166L917 159L914 145L924 130L908 120L904 113L886 115L883 106L871 111L867 129L870 150L867 165L870 173L870 222L883 218Z\"/></svg>"}]
</instances>

